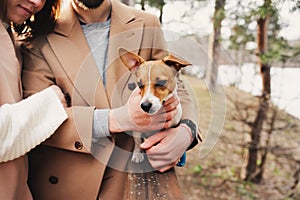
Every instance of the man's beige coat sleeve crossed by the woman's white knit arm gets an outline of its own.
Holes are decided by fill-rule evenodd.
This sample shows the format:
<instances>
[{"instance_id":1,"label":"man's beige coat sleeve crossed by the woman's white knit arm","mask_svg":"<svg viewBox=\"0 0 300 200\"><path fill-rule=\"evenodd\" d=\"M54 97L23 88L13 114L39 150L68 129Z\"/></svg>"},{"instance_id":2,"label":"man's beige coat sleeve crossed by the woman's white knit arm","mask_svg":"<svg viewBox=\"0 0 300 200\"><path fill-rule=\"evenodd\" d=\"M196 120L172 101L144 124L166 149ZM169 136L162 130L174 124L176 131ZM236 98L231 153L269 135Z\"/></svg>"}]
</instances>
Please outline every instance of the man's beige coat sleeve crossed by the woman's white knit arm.
<instances>
[{"instance_id":1,"label":"man's beige coat sleeve crossed by the woman's white knit arm","mask_svg":"<svg viewBox=\"0 0 300 200\"><path fill-rule=\"evenodd\" d=\"M23 48L22 83L25 97L50 85L55 85L61 78L59 77L61 75L55 76L47 59L44 58L41 48L43 47L27 46L27 48ZM66 88L62 88L62 90L64 89ZM73 89L69 90L72 92ZM68 119L43 144L71 151L91 153L94 109L91 106L66 108Z\"/></svg>"}]
</instances>

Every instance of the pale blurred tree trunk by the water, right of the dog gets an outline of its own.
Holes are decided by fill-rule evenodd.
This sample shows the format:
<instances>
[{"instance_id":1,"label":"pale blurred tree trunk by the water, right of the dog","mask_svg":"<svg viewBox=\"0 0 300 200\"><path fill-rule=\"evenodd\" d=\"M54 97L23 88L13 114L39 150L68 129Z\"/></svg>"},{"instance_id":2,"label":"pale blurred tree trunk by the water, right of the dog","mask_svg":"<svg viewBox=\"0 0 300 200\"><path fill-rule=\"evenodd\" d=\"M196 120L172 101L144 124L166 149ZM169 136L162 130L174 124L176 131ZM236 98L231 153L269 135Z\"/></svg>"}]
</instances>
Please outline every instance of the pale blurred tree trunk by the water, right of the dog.
<instances>
[{"instance_id":1,"label":"pale blurred tree trunk by the water, right of the dog","mask_svg":"<svg viewBox=\"0 0 300 200\"><path fill-rule=\"evenodd\" d=\"M218 63L220 55L220 40L222 21L225 18L226 0L215 0L215 12L213 16L213 31L210 35L208 57L209 62L205 77L207 79L208 88L215 90L218 78Z\"/></svg>"}]
</instances>

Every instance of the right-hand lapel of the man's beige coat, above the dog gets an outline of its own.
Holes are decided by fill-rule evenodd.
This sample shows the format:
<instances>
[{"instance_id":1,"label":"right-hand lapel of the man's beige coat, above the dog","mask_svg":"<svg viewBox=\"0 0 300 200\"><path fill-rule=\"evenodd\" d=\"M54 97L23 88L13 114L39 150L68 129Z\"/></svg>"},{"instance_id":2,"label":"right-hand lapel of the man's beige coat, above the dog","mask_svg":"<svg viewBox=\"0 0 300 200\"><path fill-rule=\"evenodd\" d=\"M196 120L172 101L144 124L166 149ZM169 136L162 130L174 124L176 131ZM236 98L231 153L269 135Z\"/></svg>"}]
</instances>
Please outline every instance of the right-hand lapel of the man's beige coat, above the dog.
<instances>
[{"instance_id":1,"label":"right-hand lapel of the man's beige coat, above the dog","mask_svg":"<svg viewBox=\"0 0 300 200\"><path fill-rule=\"evenodd\" d=\"M106 91L111 107L124 103L122 94L127 87L130 72L119 59L120 47L138 53L141 46L144 22L136 19L131 12L124 11L124 5L112 1L111 29L108 48L108 70L106 73ZM117 94L120 98L115 96ZM121 95L121 96L120 96ZM114 98L113 98L114 97Z\"/></svg>"}]
</instances>

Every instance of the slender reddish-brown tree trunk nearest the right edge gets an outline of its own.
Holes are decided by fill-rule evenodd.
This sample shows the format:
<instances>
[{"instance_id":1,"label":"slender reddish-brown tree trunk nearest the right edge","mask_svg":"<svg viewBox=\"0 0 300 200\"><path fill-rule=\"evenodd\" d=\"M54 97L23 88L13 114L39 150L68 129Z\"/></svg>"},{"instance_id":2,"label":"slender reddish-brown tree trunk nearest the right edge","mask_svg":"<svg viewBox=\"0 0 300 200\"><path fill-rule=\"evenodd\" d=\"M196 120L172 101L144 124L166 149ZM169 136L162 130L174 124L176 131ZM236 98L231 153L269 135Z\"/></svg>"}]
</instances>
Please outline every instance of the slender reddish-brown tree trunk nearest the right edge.
<instances>
[{"instance_id":1,"label":"slender reddish-brown tree trunk nearest the right edge","mask_svg":"<svg viewBox=\"0 0 300 200\"><path fill-rule=\"evenodd\" d=\"M271 0L265 0L265 6L268 8L271 6ZM265 59L268 47L268 23L269 15L266 14L261 16L257 21L257 46L258 46L258 64L262 77L262 95L260 96L259 108L257 111L256 118L251 128L251 142L249 145L249 157L246 167L246 180L260 183L262 180L262 174L257 171L258 161L258 147L260 143L260 135L263 131L263 124L267 116L269 109L270 96L271 96L271 77L270 68L271 66Z\"/></svg>"}]
</instances>

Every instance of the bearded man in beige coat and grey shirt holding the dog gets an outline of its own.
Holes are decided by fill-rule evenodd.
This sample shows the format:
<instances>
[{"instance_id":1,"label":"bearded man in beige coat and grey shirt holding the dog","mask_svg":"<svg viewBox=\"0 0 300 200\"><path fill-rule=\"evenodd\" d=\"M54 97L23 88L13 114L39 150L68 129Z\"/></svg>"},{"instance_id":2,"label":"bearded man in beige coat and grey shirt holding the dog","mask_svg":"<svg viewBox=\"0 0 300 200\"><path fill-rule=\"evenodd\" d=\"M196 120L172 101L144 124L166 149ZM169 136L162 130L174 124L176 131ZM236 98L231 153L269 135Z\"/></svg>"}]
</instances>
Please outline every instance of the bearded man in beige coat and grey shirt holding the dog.
<instances>
[{"instance_id":1,"label":"bearded man in beige coat and grey shirt holding the dog","mask_svg":"<svg viewBox=\"0 0 300 200\"><path fill-rule=\"evenodd\" d=\"M92 7L93 2L100 3ZM92 31L100 27L99 35L94 38L99 41L98 36L103 36L107 23L107 46L104 43L100 49L92 48L95 42L88 38L89 33L93 35L89 26L95 26ZM25 94L57 84L70 95L72 105L67 109L68 120L30 154L29 185L34 198L123 199L126 167L133 149L132 137L124 132L169 127L170 124L161 121L175 115L178 100L170 100L165 106L166 113L154 116L151 120L155 123L146 127L145 121L150 119L137 109L139 95L137 90L132 92L134 78L118 58L121 46L145 60L166 55L155 16L126 7L117 0L72 0L66 5L54 33L37 38L24 50ZM106 64L102 61L104 65L98 63L101 56L106 60ZM182 118L197 124L197 113L182 82L178 89ZM132 112L133 108L137 111ZM95 118L98 111L103 111L102 118ZM107 122L108 135L95 137L95 127L101 121ZM105 129L105 124L101 127ZM152 167L166 171L175 166L183 152L197 144L194 135L195 130L186 124L160 134L163 142L159 143L163 148L153 152L149 151L150 147L146 151Z\"/></svg>"}]
</instances>

